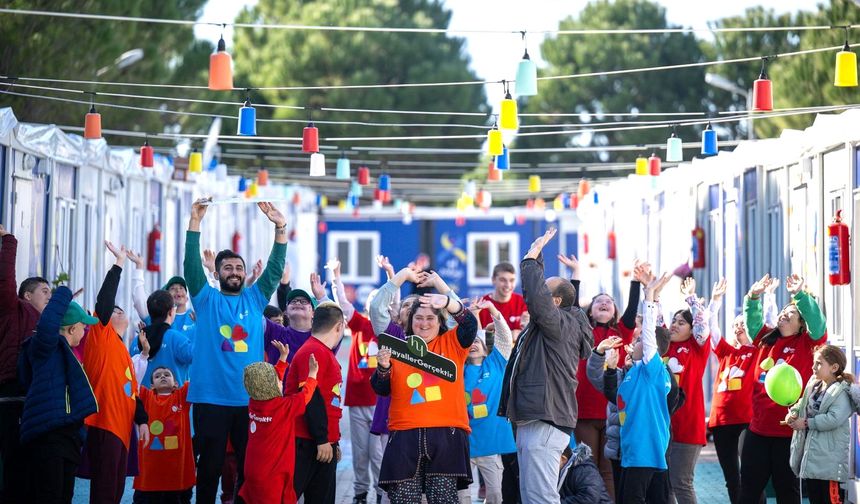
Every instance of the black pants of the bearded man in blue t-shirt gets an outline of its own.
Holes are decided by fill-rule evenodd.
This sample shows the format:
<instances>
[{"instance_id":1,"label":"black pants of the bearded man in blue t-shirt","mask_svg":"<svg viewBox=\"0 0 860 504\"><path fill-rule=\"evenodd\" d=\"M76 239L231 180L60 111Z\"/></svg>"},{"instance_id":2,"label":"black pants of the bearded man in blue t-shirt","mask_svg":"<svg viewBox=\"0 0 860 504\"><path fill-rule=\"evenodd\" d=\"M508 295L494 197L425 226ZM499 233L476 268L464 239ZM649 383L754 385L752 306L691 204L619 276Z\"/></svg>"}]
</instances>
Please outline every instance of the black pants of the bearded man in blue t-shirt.
<instances>
[{"instance_id":1,"label":"black pants of the bearded man in blue t-shirt","mask_svg":"<svg viewBox=\"0 0 860 504\"><path fill-rule=\"evenodd\" d=\"M197 502L215 504L218 479L224 467L227 438L236 452L238 484L245 481L245 447L248 446L248 407L194 404L194 443L197 452Z\"/></svg>"}]
</instances>

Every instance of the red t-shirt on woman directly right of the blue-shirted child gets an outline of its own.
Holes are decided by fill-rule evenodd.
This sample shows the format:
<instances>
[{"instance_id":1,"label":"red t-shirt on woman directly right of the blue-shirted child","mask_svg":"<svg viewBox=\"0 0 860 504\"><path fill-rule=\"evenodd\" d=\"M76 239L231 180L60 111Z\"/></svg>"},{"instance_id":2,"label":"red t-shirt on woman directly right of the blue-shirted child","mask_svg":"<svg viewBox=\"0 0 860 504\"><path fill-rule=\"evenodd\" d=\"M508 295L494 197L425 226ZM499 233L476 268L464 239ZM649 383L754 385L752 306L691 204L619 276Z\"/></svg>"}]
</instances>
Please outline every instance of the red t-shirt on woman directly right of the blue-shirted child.
<instances>
[{"instance_id":1,"label":"red t-shirt on woman directly right of the blue-shirted child","mask_svg":"<svg viewBox=\"0 0 860 504\"><path fill-rule=\"evenodd\" d=\"M702 376L711 353L710 338L703 345L691 336L687 341L669 344L665 361L684 390L684 405L672 415L672 441L705 445L705 393Z\"/></svg>"}]
</instances>

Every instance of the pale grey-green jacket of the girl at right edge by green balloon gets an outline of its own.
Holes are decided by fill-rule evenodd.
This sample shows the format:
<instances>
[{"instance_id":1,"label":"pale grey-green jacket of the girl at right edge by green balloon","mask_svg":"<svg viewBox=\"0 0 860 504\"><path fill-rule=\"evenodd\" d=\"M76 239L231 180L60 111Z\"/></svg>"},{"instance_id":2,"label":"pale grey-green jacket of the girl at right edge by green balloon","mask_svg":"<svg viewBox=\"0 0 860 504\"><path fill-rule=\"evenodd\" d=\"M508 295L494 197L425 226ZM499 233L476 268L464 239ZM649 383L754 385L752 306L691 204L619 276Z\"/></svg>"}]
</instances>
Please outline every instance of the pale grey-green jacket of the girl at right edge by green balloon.
<instances>
[{"instance_id":1,"label":"pale grey-green jacket of the girl at right edge by green balloon","mask_svg":"<svg viewBox=\"0 0 860 504\"><path fill-rule=\"evenodd\" d=\"M815 378L809 380L800 401L789 411L798 418L806 418L806 404L812 396ZM836 382L824 392L818 414L807 419L805 431L794 431L791 436L791 470L804 479L848 481L851 465L848 446L851 444L851 414L854 405L850 385Z\"/></svg>"}]
</instances>

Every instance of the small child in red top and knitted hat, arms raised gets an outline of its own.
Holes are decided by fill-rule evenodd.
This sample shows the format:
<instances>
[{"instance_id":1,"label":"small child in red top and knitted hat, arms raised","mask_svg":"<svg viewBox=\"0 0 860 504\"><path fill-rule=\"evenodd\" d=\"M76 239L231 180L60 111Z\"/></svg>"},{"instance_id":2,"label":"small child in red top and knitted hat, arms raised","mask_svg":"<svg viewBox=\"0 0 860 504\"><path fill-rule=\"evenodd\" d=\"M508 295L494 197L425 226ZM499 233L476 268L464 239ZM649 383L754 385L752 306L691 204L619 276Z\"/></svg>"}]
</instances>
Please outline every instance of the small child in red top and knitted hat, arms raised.
<instances>
[{"instance_id":1,"label":"small child in red top and knitted hat, arms raised","mask_svg":"<svg viewBox=\"0 0 860 504\"><path fill-rule=\"evenodd\" d=\"M239 496L248 504L296 502L293 475L296 468L296 418L305 412L317 387L319 364L308 359L308 377L298 393L284 395L289 347L274 340L280 351L278 364L255 362L245 367L248 402L248 447L245 449L245 482ZM329 352L330 353L330 352Z\"/></svg>"}]
</instances>

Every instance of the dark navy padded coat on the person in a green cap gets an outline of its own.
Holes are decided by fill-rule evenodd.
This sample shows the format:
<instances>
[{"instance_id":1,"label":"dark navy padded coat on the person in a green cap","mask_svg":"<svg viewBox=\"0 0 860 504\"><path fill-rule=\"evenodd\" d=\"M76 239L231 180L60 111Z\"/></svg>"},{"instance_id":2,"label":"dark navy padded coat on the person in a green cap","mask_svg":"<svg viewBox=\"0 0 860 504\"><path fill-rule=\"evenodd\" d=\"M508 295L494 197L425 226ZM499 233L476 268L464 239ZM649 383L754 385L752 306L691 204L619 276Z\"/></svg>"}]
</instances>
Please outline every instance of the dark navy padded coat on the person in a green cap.
<instances>
[{"instance_id":1,"label":"dark navy padded coat on the person in a green cap","mask_svg":"<svg viewBox=\"0 0 860 504\"><path fill-rule=\"evenodd\" d=\"M60 335L60 323L72 291L59 287L24 342L18 361L19 380L27 388L21 415L21 443L59 427L80 424L98 411L84 368Z\"/></svg>"}]
</instances>

